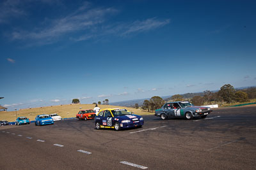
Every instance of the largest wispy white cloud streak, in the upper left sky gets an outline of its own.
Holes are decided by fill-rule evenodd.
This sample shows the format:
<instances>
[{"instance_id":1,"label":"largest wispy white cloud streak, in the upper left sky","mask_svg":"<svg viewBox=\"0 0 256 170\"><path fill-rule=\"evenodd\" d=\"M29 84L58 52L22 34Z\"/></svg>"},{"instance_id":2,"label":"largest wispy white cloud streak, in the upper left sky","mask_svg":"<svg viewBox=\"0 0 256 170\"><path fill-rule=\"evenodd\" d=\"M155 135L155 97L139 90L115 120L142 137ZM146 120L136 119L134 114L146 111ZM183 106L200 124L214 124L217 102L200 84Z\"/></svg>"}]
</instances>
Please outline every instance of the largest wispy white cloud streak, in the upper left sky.
<instances>
[{"instance_id":1,"label":"largest wispy white cloud streak, in the upper left sky","mask_svg":"<svg viewBox=\"0 0 256 170\"><path fill-rule=\"evenodd\" d=\"M81 8L77 11L56 20L51 20L51 23L47 24L48 27L35 28L36 31L15 31L12 33L13 39L31 39L42 41L42 44L49 44L58 41L58 37L67 35L68 33L95 29L95 25L105 21L106 16L110 13L115 13L113 8L94 8L92 10L81 12ZM76 41L82 41L84 39L91 38L92 35L84 36Z\"/></svg>"}]
</instances>

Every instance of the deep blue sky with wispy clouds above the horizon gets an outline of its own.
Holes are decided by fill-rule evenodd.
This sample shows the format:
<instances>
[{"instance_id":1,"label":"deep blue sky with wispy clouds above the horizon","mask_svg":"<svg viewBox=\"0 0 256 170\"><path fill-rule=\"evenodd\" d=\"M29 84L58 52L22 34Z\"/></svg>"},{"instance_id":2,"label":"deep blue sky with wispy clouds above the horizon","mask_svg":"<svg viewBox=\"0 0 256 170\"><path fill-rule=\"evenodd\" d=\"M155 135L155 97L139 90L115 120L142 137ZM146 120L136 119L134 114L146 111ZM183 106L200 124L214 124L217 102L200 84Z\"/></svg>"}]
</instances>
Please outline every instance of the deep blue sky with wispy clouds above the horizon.
<instances>
[{"instance_id":1,"label":"deep blue sky with wispy clouds above the horizon","mask_svg":"<svg viewBox=\"0 0 256 170\"><path fill-rule=\"evenodd\" d=\"M256 85L256 1L0 1L8 111Z\"/></svg>"}]
</instances>

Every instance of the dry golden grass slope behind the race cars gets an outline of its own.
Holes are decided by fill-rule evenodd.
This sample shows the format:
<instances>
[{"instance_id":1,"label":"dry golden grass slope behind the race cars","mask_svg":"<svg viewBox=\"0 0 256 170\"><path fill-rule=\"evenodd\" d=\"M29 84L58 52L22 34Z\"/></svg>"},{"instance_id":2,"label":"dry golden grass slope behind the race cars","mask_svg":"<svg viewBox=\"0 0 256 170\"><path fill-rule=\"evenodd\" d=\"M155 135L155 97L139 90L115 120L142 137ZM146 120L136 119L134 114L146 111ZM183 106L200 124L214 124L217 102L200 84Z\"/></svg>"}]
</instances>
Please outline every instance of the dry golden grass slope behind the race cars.
<instances>
[{"instance_id":1,"label":"dry golden grass slope behind the race cars","mask_svg":"<svg viewBox=\"0 0 256 170\"><path fill-rule=\"evenodd\" d=\"M152 112L143 111L135 108L127 108L122 106L98 105L100 109L104 108L126 108L134 112L136 115L153 115ZM35 120L36 115L58 113L62 118L76 117L79 110L93 109L95 104L67 104L60 106L47 106L42 108L28 108L17 110L17 117L28 117ZM14 122L16 120L16 111L0 111L0 120L8 120Z\"/></svg>"}]
</instances>

